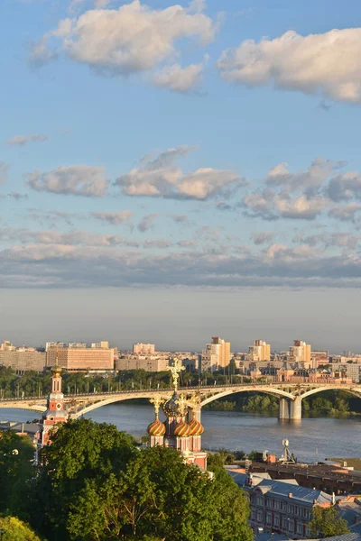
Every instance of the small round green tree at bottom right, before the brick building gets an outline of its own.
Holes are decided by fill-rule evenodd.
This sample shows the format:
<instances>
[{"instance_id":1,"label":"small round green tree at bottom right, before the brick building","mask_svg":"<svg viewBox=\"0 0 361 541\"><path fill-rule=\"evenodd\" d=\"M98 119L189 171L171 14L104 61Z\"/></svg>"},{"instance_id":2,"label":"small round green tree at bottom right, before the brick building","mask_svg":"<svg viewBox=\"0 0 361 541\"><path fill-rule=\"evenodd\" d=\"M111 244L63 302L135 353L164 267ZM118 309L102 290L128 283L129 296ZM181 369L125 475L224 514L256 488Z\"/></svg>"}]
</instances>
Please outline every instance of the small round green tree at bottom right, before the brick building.
<instances>
[{"instance_id":1,"label":"small round green tree at bottom right, before the brick building","mask_svg":"<svg viewBox=\"0 0 361 541\"><path fill-rule=\"evenodd\" d=\"M336 506L329 508L316 506L313 508L309 528L311 538L349 534L347 521L344 518L340 518Z\"/></svg>"}]
</instances>

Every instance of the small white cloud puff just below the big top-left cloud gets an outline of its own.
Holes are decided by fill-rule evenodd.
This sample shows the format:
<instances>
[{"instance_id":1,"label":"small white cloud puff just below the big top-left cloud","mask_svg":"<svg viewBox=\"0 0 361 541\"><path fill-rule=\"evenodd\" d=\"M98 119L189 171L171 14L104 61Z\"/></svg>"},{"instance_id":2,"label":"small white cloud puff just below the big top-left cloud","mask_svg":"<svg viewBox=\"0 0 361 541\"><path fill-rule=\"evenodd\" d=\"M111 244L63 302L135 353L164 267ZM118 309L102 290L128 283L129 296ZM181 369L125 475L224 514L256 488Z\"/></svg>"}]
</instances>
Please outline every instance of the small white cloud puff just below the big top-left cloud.
<instances>
[{"instance_id":1,"label":"small white cloud puff just below the big top-left cloud","mask_svg":"<svg viewBox=\"0 0 361 541\"><path fill-rule=\"evenodd\" d=\"M203 64L190 64L186 68L181 68L179 64L173 64L156 72L152 82L156 87L165 87L173 92L187 94L197 90L202 73Z\"/></svg>"}]
</instances>

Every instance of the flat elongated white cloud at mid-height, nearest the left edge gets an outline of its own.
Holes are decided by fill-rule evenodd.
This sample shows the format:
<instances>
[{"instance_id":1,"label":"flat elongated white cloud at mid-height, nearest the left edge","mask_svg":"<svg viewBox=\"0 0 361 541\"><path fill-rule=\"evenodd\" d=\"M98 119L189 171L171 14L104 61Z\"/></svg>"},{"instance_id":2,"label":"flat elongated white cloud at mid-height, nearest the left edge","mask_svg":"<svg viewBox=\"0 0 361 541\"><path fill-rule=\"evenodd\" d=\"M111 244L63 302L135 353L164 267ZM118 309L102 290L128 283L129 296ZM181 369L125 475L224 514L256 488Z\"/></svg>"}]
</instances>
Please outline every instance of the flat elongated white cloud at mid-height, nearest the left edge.
<instances>
[{"instance_id":1,"label":"flat elongated white cloud at mid-height, nearest the left edge","mask_svg":"<svg viewBox=\"0 0 361 541\"><path fill-rule=\"evenodd\" d=\"M53 194L102 197L106 195L105 168L89 165L58 167L46 173L34 171L28 175L28 186Z\"/></svg>"}]
</instances>

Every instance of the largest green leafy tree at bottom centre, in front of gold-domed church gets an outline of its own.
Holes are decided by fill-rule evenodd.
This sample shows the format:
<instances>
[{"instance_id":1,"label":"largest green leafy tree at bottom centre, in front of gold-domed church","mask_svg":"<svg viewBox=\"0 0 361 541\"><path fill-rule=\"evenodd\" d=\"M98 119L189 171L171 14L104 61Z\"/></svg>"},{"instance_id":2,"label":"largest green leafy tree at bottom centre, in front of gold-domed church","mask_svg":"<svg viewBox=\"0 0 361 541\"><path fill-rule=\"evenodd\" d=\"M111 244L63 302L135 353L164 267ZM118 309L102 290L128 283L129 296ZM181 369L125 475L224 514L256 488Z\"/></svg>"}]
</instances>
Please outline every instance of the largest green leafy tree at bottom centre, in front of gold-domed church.
<instances>
[{"instance_id":1,"label":"largest green leafy tree at bottom centre, in front of gold-domed church","mask_svg":"<svg viewBox=\"0 0 361 541\"><path fill-rule=\"evenodd\" d=\"M245 495L223 469L215 481L163 447L136 455L101 491L88 486L69 516L69 532L90 540L251 541Z\"/></svg>"}]
</instances>

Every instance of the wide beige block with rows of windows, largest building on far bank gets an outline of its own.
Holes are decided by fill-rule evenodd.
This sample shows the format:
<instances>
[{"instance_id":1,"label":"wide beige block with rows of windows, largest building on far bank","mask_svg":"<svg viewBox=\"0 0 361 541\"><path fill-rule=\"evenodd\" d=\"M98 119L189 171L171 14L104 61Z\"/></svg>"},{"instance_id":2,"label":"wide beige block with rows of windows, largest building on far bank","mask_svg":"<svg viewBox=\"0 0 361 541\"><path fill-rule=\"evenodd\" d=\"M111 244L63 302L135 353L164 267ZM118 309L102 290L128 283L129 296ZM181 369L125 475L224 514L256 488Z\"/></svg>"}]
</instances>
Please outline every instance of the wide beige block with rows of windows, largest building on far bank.
<instances>
[{"instance_id":1,"label":"wide beige block with rows of windows, largest building on far bank","mask_svg":"<svg viewBox=\"0 0 361 541\"><path fill-rule=\"evenodd\" d=\"M114 370L115 350L97 347L50 347L47 366L54 366L58 356L60 368L69 371Z\"/></svg>"}]
</instances>

